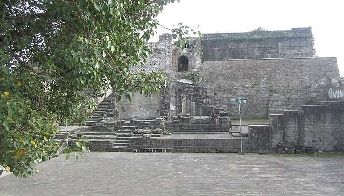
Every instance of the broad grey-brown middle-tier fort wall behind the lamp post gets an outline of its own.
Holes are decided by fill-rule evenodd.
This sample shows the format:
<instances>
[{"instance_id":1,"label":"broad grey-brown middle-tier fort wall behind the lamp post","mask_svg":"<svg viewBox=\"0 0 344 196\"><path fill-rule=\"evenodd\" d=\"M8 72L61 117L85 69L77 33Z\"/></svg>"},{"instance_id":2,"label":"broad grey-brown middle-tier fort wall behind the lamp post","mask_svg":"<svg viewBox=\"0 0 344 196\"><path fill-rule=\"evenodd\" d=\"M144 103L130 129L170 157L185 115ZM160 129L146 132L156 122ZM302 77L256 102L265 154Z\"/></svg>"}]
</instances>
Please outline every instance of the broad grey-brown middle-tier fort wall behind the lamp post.
<instances>
[{"instance_id":1,"label":"broad grey-brown middle-tier fort wall behind the lamp post","mask_svg":"<svg viewBox=\"0 0 344 196\"><path fill-rule=\"evenodd\" d=\"M324 78L338 78L337 60L329 58L278 58L206 61L200 67L198 84L205 87L208 101L237 117L234 97L247 97L243 118L267 118L286 109L300 109L312 98L328 98L327 85L314 85Z\"/></svg>"}]
</instances>

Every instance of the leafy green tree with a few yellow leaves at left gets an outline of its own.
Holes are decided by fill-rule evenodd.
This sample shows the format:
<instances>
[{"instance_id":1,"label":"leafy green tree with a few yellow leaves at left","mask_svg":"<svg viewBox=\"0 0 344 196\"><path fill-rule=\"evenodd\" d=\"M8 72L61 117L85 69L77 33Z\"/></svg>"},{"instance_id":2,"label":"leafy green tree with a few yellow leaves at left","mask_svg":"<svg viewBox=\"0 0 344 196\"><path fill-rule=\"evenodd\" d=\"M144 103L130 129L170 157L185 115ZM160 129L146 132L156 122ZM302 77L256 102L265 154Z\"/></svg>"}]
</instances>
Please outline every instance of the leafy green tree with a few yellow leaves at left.
<instances>
[{"instance_id":1,"label":"leafy green tree with a few yellow leaves at left","mask_svg":"<svg viewBox=\"0 0 344 196\"><path fill-rule=\"evenodd\" d=\"M26 177L62 145L58 124L85 120L109 86L130 99L166 84L143 65L156 16L175 0L0 2L0 165ZM181 30L180 30L181 29ZM183 48L187 26L173 29ZM175 37L176 39L176 37ZM66 153L85 150L80 141ZM69 157L67 155L67 157ZM78 154L76 154L77 158ZM66 158L67 158L66 157ZM0 174L4 172L0 170ZM37 172L37 171L36 171Z\"/></svg>"}]
</instances>

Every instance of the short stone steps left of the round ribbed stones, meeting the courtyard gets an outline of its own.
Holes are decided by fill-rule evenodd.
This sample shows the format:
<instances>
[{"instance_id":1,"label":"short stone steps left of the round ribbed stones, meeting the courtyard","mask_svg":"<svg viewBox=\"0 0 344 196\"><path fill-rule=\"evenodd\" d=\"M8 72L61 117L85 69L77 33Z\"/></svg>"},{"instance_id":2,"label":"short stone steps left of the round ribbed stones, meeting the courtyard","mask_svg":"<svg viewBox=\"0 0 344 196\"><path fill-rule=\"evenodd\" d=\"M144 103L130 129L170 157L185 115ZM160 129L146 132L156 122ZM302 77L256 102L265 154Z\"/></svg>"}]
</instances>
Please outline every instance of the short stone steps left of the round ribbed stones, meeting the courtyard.
<instances>
[{"instance_id":1,"label":"short stone steps left of the round ribbed stones, meeting the courtyard","mask_svg":"<svg viewBox=\"0 0 344 196\"><path fill-rule=\"evenodd\" d=\"M132 130L134 126L122 126L119 127L117 133L115 133L116 139L110 147L112 152L129 152L129 138L133 136Z\"/></svg>"}]
</instances>

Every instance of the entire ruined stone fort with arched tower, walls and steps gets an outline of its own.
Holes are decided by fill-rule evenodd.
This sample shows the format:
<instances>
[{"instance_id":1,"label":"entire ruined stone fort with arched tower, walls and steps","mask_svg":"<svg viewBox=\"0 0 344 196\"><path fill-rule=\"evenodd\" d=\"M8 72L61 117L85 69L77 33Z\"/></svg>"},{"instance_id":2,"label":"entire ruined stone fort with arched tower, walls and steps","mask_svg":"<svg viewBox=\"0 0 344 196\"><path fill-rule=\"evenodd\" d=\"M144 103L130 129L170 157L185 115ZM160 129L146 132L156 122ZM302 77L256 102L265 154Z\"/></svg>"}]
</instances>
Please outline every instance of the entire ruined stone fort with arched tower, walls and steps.
<instances>
[{"instance_id":1,"label":"entire ruined stone fort with arched tower, walls and steps","mask_svg":"<svg viewBox=\"0 0 344 196\"><path fill-rule=\"evenodd\" d=\"M343 151L344 85L336 57L316 57L313 42L310 27L203 34L185 49L160 35L133 71L165 71L168 85L131 101L108 93L78 135L93 151L238 152L231 99L246 97L241 116L268 120L244 124L245 151Z\"/></svg>"}]
</instances>

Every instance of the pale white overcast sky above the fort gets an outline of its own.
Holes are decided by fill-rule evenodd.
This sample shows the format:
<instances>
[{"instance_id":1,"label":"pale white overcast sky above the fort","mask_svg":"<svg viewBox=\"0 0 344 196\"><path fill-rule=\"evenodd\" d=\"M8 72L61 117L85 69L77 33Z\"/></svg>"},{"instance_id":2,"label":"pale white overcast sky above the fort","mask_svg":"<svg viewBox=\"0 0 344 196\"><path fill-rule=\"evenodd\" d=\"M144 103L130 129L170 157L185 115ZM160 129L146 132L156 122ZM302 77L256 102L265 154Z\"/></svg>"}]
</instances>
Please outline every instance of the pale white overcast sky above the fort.
<instances>
[{"instance_id":1,"label":"pale white overcast sky above the fort","mask_svg":"<svg viewBox=\"0 0 344 196\"><path fill-rule=\"evenodd\" d=\"M202 33L248 32L258 27L291 30L312 27L319 57L337 57L344 76L344 1L342 0L180 0L165 6L159 23L200 25ZM159 27L157 34L171 33ZM155 36L152 41L159 38Z\"/></svg>"}]
</instances>

